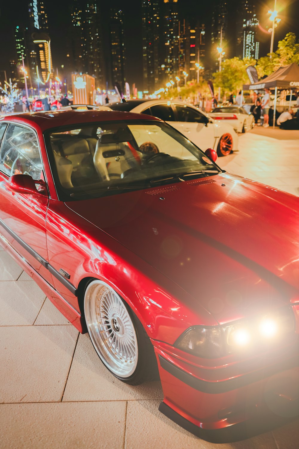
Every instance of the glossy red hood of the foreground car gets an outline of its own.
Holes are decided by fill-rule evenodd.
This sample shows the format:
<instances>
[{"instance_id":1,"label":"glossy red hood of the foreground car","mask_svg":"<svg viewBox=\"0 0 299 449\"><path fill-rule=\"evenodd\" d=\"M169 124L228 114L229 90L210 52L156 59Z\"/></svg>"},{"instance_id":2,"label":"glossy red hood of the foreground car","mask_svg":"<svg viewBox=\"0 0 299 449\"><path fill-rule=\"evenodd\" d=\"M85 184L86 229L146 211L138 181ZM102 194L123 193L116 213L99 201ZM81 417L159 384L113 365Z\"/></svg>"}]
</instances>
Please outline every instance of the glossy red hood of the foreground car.
<instances>
[{"instance_id":1,"label":"glossy red hood of the foreground car","mask_svg":"<svg viewBox=\"0 0 299 449\"><path fill-rule=\"evenodd\" d=\"M67 206L219 323L298 300L299 198L223 173Z\"/></svg>"}]
</instances>

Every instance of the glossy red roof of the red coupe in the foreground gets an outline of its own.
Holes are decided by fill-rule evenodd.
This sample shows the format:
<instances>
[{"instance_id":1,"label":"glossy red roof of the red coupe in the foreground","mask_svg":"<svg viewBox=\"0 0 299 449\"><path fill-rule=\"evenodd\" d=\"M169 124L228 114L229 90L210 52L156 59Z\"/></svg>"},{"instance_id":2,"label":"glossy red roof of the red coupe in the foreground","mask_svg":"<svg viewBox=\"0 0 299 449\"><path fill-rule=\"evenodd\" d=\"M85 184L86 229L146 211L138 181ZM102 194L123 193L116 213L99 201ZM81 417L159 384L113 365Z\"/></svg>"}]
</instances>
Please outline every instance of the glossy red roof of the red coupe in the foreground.
<instances>
[{"instance_id":1,"label":"glossy red roof of the red coupe in the foreground","mask_svg":"<svg viewBox=\"0 0 299 449\"><path fill-rule=\"evenodd\" d=\"M114 120L158 120L143 114L132 112L110 111L110 110L64 110L64 111L43 111L27 112L25 114L7 115L0 119L13 123L25 123L31 126L37 125L42 131L60 126L75 125L82 123L94 123Z\"/></svg>"}]
</instances>

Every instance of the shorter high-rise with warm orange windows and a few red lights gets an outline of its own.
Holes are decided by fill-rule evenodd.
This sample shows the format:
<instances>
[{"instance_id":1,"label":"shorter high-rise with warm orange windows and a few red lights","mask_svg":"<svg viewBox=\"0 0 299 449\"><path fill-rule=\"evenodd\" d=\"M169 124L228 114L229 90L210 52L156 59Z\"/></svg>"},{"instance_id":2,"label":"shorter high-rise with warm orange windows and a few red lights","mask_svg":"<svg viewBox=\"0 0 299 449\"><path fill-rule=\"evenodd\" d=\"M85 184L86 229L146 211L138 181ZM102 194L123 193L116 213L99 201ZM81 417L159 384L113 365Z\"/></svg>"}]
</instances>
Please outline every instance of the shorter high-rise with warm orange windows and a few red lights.
<instances>
[{"instance_id":1,"label":"shorter high-rise with warm orange windows and a few red lights","mask_svg":"<svg viewBox=\"0 0 299 449\"><path fill-rule=\"evenodd\" d=\"M205 26L198 20L179 22L179 73L184 78L183 71L189 74L190 80L197 79L197 67L205 66Z\"/></svg>"}]
</instances>

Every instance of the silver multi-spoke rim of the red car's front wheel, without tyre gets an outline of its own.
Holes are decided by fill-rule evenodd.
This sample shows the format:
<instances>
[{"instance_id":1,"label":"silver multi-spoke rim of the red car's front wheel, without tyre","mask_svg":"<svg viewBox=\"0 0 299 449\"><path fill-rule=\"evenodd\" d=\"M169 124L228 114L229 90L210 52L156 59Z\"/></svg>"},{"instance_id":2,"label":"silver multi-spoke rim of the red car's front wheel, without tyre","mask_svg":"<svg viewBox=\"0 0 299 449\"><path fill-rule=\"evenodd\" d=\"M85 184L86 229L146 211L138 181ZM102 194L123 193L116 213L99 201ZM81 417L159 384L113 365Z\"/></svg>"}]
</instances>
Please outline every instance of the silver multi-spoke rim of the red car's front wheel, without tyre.
<instances>
[{"instance_id":1,"label":"silver multi-spoke rim of the red car's front wheel, without tyre","mask_svg":"<svg viewBox=\"0 0 299 449\"><path fill-rule=\"evenodd\" d=\"M85 291L84 314L101 361L118 379L131 378L138 364L138 343L124 301L108 284L95 280Z\"/></svg>"}]
</instances>

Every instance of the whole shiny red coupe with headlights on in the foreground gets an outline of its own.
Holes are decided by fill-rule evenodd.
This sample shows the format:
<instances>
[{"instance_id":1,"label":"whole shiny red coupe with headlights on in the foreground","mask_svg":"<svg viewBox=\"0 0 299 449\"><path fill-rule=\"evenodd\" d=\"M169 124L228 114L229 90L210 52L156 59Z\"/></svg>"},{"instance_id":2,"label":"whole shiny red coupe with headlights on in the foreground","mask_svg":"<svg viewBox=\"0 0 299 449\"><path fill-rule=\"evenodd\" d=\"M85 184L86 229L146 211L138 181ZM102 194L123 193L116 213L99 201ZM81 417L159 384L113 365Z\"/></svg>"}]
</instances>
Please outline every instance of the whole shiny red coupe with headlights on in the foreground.
<instances>
[{"instance_id":1,"label":"whole shiny red coupe with headlights on in the foreground","mask_svg":"<svg viewBox=\"0 0 299 449\"><path fill-rule=\"evenodd\" d=\"M158 368L160 411L207 440L297 412L299 198L146 115L20 114L0 138L1 244L108 370Z\"/></svg>"}]
</instances>

